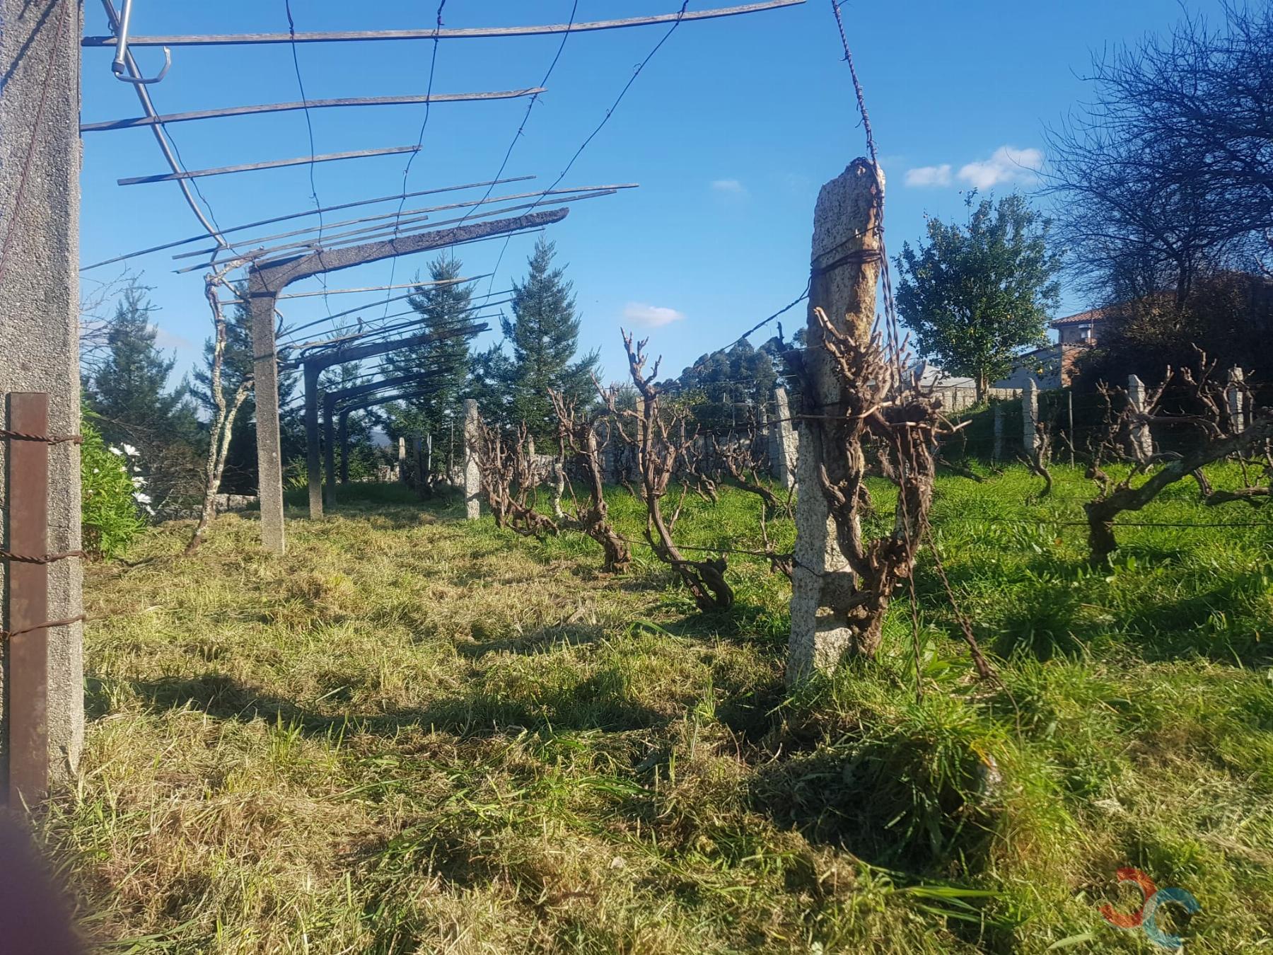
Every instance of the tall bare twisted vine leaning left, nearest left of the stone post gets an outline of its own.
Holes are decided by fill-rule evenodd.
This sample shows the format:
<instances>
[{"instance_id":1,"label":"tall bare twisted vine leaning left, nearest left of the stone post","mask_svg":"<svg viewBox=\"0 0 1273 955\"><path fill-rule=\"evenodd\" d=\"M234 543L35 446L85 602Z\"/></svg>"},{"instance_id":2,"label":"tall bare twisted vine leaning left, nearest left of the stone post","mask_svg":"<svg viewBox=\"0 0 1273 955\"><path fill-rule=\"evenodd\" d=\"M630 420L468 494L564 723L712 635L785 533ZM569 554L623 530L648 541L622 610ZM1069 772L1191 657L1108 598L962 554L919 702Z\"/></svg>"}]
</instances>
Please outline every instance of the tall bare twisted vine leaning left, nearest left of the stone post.
<instances>
[{"instance_id":1,"label":"tall bare twisted vine leaning left, nearest left of the stone post","mask_svg":"<svg viewBox=\"0 0 1273 955\"><path fill-rule=\"evenodd\" d=\"M694 596L700 610L728 610L733 606L733 590L726 583L726 559L722 554L715 560L686 560L672 540L672 530L689 493L684 485L681 503L671 517L663 514L662 499L676 474L677 465L685 460L686 449L694 442L694 434L686 430L686 411L673 409L667 414L659 405L659 392L654 386L658 365L645 373L647 340L633 343L633 336L622 331L624 349L628 351L628 371L636 393L640 396L636 410L617 407L617 395L614 390L597 388L601 400L608 409L615 429L626 441L634 441L636 465L640 471L640 497L645 502L645 540L654 555L668 564ZM635 438L628 435L622 421L635 429Z\"/></svg>"}]
</instances>

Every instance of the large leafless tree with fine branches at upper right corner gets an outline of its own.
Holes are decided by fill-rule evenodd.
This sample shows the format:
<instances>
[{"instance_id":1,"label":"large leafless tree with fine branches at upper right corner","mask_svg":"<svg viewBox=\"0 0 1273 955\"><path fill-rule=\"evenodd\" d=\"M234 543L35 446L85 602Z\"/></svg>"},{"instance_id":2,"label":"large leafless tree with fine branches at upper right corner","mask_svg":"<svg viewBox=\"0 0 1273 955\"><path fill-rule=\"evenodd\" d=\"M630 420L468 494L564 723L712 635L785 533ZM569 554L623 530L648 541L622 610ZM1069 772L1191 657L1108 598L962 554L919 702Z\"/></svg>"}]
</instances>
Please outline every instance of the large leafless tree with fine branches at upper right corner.
<instances>
[{"instance_id":1,"label":"large leafless tree with fine branches at upper right corner","mask_svg":"<svg viewBox=\"0 0 1273 955\"><path fill-rule=\"evenodd\" d=\"M1094 62L1094 97L1049 132L1051 187L1077 276L1106 301L1171 289L1273 247L1273 8L1226 3L1211 28ZM1267 265L1267 261L1265 261Z\"/></svg>"}]
</instances>

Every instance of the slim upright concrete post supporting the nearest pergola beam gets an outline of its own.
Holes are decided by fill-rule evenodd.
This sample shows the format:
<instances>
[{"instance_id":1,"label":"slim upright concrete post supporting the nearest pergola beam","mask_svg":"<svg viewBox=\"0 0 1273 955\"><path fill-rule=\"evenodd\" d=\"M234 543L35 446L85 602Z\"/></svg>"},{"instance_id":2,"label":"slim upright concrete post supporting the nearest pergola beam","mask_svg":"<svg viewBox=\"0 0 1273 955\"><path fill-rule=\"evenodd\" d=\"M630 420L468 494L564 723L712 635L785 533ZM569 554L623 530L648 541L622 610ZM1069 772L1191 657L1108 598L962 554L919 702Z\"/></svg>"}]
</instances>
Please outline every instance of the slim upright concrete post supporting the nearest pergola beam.
<instances>
[{"instance_id":1,"label":"slim upright concrete post supporting the nearest pergola beam","mask_svg":"<svg viewBox=\"0 0 1273 955\"><path fill-rule=\"evenodd\" d=\"M247 272L248 307L252 309L252 397L256 402L257 497L261 502L261 546L281 554L283 439L279 434L279 350L274 337L278 292L256 270Z\"/></svg>"}]
</instances>

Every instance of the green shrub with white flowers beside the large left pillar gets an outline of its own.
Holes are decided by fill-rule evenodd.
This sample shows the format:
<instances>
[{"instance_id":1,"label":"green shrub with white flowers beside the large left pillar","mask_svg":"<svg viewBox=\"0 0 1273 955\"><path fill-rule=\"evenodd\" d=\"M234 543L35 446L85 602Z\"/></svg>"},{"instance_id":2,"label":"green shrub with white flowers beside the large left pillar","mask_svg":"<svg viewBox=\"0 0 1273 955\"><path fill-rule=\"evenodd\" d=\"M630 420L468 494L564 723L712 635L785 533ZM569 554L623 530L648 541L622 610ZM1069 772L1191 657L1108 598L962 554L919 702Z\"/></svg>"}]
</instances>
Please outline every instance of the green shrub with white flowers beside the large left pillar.
<instances>
[{"instance_id":1,"label":"green shrub with white flowers beside the large left pillar","mask_svg":"<svg viewBox=\"0 0 1273 955\"><path fill-rule=\"evenodd\" d=\"M145 526L139 504L150 503L141 490L141 479L129 474L136 451L127 446L108 448L89 421L81 423L80 433L84 435L80 447L84 550L94 558L118 556Z\"/></svg>"}]
</instances>

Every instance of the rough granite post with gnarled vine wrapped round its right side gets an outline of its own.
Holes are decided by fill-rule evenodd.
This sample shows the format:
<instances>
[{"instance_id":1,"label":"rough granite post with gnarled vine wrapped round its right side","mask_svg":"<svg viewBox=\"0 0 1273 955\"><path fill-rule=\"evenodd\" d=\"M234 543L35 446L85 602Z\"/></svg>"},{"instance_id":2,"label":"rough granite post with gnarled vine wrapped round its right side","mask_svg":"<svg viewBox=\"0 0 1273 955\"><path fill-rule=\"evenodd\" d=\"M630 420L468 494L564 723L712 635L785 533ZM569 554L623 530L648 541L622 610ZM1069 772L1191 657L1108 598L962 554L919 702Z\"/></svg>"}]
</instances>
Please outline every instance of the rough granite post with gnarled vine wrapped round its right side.
<instances>
[{"instance_id":1,"label":"rough granite post with gnarled vine wrapped round its right side","mask_svg":"<svg viewBox=\"0 0 1273 955\"><path fill-rule=\"evenodd\" d=\"M816 414L843 414L840 390L824 334L813 316L820 307L844 334L869 336L875 322L876 281L880 276L880 208L883 173L866 159L855 159L840 176L822 186L813 208L813 243L808 295L807 407ZM849 646L850 633L824 598L825 574L847 570L836 545L826 498L819 484L815 429L799 430L797 484L803 493L796 503L796 559L792 574L792 633L787 652L787 680L807 679L815 670L831 670ZM843 478L843 467L829 466L830 479ZM864 470L864 463L859 462ZM827 582L830 586L830 581Z\"/></svg>"}]
</instances>

